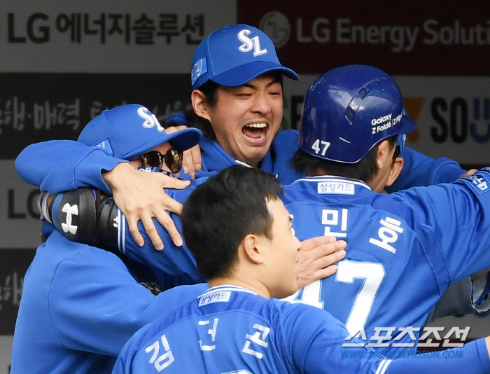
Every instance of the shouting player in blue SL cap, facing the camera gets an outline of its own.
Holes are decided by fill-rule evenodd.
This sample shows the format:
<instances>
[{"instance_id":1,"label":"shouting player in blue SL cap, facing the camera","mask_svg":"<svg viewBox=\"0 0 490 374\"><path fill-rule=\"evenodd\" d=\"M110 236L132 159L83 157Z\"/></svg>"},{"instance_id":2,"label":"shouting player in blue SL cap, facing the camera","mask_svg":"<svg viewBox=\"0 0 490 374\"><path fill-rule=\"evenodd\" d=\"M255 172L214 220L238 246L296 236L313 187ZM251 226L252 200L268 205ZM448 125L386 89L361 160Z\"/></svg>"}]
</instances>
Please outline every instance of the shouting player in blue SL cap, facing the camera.
<instances>
[{"instance_id":1,"label":"shouting player in blue SL cap, facing the camera","mask_svg":"<svg viewBox=\"0 0 490 374\"><path fill-rule=\"evenodd\" d=\"M266 34L255 27L248 25L223 27L212 32L202 41L193 55L191 71L194 89L193 102L200 99L200 102L195 104L196 107L200 107L200 113L210 113L211 111L207 111L205 108L207 98L204 97L199 88L202 88L209 81L214 81L221 85L218 90L220 90L220 94L223 94L223 97L220 95L218 98L220 104L216 108L227 108L229 111L218 110L210 113L213 116L213 122L216 122L216 128L221 126L223 131L219 132L220 135L218 136L221 143L211 141L202 145L203 173L200 176L207 176L209 173L213 174L224 167L236 165L236 160L252 166L258 166L260 163L262 169L272 172L272 174L280 174L280 178L284 173L294 173L293 169L287 166L287 160L294 154L294 148L293 151L290 151L287 147L280 147L277 154L276 152L274 154L269 152L282 120L282 74L288 78L298 79L295 71L283 67L279 62L274 43ZM244 99L245 97L247 99ZM226 105L222 105L221 103L225 99L228 101ZM232 127L232 130L228 131L228 127ZM289 142L295 144L297 134L287 133L286 135L288 139L291 139ZM225 146L225 144L230 144L230 147ZM31 147L24 154L21 153L17 166L18 172L25 179L28 179L29 183L37 185L42 183L42 188L53 194L88 185L107 192L110 190L107 181L112 188L117 190L116 202L125 212L125 216L130 222L130 230L135 235L135 240L142 243L141 235L137 229L138 219L141 219L146 230L153 234L151 219L146 218L146 216L141 217L133 211L137 211L138 202L145 197L148 197L148 200L154 205L149 208L150 214L148 216L150 217L165 217L167 215L165 206L160 206L158 194L150 195L141 191L145 188L140 186L146 186L148 181L139 181L141 176L133 169L126 165L115 167L117 160L114 158L106 158L100 154L87 155L88 151L78 153L79 157L76 159L76 155L72 151L71 159L64 162L64 168L59 170L57 176L52 176L43 174L45 170L31 173L31 165L22 158L23 155L26 155L26 158L30 158L34 154L37 156L45 155L43 160L49 164L51 160L57 160L59 154L69 151L69 147L69 143L66 142L44 143ZM52 158L48 156L52 156ZM96 161L95 165L100 165L101 169L94 169L94 160ZM119 162L121 161L119 160ZM75 180L73 180L74 169L78 170ZM114 173L111 173L112 171ZM84 179L85 183L80 183L81 179L78 178ZM64 182L60 183L60 179L63 179ZM139 183L133 183L134 180L138 180ZM132 187L137 191L133 191ZM125 193L126 189L130 191ZM118 200L118 194L124 201ZM125 197L130 198L125 200ZM128 206L127 209L126 205ZM144 202L143 205L146 206L147 202ZM166 225L164 224L164 226ZM168 227L170 227L169 223L167 223ZM176 240L177 237L180 237L176 230L172 230L170 234L176 245L181 244ZM160 237L158 235L151 235L151 237L155 247L161 249L163 243Z\"/></svg>"}]
</instances>

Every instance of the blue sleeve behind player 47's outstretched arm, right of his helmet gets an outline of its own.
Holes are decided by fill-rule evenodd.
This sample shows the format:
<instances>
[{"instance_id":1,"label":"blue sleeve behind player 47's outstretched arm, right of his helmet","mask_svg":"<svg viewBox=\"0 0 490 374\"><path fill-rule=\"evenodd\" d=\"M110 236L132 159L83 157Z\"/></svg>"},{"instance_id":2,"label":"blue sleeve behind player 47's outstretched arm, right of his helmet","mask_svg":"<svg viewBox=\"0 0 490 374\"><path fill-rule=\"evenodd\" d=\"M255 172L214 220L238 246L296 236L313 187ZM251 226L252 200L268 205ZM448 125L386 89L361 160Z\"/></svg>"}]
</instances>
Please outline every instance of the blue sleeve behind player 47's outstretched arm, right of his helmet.
<instances>
[{"instance_id":1,"label":"blue sleeve behind player 47's outstretched arm, right of his helmet","mask_svg":"<svg viewBox=\"0 0 490 374\"><path fill-rule=\"evenodd\" d=\"M416 186L449 183L466 172L456 161L444 157L434 160L408 147L403 148L400 157L405 160L405 165L395 183L385 188L388 193Z\"/></svg>"}]
</instances>

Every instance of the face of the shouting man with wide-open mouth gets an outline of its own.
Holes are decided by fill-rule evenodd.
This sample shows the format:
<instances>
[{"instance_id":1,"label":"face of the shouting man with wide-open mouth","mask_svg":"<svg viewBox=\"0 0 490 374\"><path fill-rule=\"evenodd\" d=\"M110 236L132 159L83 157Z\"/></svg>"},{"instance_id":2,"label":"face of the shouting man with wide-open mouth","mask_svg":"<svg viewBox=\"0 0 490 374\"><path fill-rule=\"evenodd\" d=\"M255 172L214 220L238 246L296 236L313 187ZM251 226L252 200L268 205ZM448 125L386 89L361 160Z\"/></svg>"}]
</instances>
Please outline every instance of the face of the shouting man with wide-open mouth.
<instances>
[{"instance_id":1,"label":"face of the shouting man with wide-open mouth","mask_svg":"<svg viewBox=\"0 0 490 374\"><path fill-rule=\"evenodd\" d=\"M233 158L256 167L281 125L279 73L263 74L244 85L218 87L218 100L200 114L211 122L216 141Z\"/></svg>"}]
</instances>

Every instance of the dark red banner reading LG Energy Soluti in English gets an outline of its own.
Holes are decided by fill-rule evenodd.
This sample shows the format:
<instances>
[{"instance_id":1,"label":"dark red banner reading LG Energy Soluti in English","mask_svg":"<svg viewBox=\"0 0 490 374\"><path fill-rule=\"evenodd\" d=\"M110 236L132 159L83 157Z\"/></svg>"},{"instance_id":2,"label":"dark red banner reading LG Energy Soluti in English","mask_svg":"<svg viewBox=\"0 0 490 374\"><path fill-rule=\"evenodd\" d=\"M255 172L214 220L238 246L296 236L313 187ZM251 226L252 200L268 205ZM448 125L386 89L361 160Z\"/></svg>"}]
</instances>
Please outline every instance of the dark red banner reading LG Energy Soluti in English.
<instances>
[{"instance_id":1,"label":"dark red banner reading LG Energy Soluti in English","mask_svg":"<svg viewBox=\"0 0 490 374\"><path fill-rule=\"evenodd\" d=\"M268 34L300 74L369 64L394 75L488 75L490 18L476 1L238 0L238 22Z\"/></svg>"}]
</instances>

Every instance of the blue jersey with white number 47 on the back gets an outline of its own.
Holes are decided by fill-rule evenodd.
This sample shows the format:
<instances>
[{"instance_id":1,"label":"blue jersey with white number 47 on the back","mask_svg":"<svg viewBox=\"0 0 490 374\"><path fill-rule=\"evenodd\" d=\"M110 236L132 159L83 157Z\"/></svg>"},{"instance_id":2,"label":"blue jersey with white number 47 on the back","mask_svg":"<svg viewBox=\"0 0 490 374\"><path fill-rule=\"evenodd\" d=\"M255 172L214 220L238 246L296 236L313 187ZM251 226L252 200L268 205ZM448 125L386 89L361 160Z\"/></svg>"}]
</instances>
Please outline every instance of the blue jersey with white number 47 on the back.
<instances>
[{"instance_id":1,"label":"blue jersey with white number 47 on the back","mask_svg":"<svg viewBox=\"0 0 490 374\"><path fill-rule=\"evenodd\" d=\"M283 201L298 239L335 236L347 249L335 275L288 300L328 310L370 343L414 349L449 284L490 267L489 191L489 169L391 195L335 176L295 181ZM419 330L399 330L407 326Z\"/></svg>"}]
</instances>

